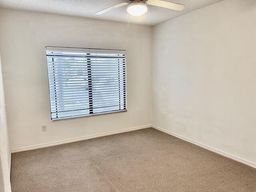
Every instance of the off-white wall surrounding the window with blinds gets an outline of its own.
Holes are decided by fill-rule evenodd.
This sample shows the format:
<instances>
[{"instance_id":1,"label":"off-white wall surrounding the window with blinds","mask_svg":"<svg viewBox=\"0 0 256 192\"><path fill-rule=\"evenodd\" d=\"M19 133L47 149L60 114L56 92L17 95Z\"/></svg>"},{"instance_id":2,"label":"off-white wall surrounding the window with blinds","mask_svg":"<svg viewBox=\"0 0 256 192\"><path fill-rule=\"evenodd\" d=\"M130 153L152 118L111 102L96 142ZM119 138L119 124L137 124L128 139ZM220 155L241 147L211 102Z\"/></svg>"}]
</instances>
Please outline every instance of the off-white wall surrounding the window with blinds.
<instances>
[{"instance_id":1,"label":"off-white wall surrounding the window with blinds","mask_svg":"<svg viewBox=\"0 0 256 192\"><path fill-rule=\"evenodd\" d=\"M8 9L0 18L12 150L151 124L152 27ZM45 46L127 50L128 112L51 122Z\"/></svg>"}]
</instances>

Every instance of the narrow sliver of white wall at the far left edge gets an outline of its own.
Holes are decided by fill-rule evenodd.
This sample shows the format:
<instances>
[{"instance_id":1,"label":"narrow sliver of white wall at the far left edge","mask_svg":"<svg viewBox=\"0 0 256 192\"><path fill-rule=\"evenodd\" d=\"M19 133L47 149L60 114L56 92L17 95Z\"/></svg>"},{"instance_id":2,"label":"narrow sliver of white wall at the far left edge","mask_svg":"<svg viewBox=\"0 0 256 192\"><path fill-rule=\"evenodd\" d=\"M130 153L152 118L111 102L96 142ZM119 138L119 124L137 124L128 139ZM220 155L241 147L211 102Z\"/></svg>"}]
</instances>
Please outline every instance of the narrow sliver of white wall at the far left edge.
<instances>
[{"instance_id":1,"label":"narrow sliver of white wall at the far left edge","mask_svg":"<svg viewBox=\"0 0 256 192\"><path fill-rule=\"evenodd\" d=\"M10 192L10 160L8 129L4 102L4 85L0 57L0 192Z\"/></svg>"}]
</instances>

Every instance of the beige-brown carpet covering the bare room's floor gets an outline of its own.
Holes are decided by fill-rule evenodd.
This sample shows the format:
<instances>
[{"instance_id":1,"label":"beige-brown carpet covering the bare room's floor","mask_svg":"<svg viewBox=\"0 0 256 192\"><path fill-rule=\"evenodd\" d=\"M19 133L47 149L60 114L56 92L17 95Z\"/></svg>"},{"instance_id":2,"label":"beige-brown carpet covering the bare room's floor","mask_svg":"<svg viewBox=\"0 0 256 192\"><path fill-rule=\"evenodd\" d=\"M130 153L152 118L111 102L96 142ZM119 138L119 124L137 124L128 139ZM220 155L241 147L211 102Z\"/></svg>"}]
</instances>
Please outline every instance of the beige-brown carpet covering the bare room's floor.
<instances>
[{"instance_id":1,"label":"beige-brown carpet covering the bare room's floor","mask_svg":"<svg viewBox=\"0 0 256 192\"><path fill-rule=\"evenodd\" d=\"M256 169L148 128L12 154L12 192L256 192Z\"/></svg>"}]
</instances>

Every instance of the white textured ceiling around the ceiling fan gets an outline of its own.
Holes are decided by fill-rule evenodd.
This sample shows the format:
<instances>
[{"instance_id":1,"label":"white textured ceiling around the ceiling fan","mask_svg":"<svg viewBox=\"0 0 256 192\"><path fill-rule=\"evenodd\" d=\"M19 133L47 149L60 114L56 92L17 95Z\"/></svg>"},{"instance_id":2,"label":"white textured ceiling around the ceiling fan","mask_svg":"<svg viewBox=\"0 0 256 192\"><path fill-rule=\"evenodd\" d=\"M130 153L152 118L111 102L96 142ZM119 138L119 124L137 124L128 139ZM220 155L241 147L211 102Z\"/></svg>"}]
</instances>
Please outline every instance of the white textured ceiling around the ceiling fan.
<instances>
[{"instance_id":1,"label":"white textured ceiling around the ceiling fan","mask_svg":"<svg viewBox=\"0 0 256 192\"><path fill-rule=\"evenodd\" d=\"M128 22L126 6L112 10L106 14L95 15L94 13L104 8L126 2L127 0L0 0L0 7L35 12L64 14L87 18ZM184 4L183 11L178 12L156 6L148 6L148 12L144 16L129 16L129 22L155 25L172 18L184 15L188 12L209 6L222 0L166 0Z\"/></svg>"}]
</instances>

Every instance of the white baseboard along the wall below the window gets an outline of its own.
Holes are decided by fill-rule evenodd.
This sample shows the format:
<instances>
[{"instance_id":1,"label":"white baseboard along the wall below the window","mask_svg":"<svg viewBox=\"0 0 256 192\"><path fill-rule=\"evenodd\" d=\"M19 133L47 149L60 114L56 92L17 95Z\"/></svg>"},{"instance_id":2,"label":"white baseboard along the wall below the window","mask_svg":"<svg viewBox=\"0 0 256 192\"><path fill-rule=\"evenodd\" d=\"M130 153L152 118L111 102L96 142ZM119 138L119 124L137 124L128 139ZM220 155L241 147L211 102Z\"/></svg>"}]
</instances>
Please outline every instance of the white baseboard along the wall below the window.
<instances>
[{"instance_id":1,"label":"white baseboard along the wall below the window","mask_svg":"<svg viewBox=\"0 0 256 192\"><path fill-rule=\"evenodd\" d=\"M102 137L102 136L114 135L114 134L118 134L118 133L124 133L124 132L129 132L129 131L134 131L134 130L139 130L139 129L144 129L144 128L150 128L150 127L152 127L152 126L145 125L145 126L138 126L138 127L127 128L127 129L122 129L122 130L110 131L110 132L94 134L94 135L89 135L89 136L83 136L83 137L78 137L78 138L73 138L73 139L61 140L61 141L33 145L33 146L22 147L22 148L16 148L16 149L12 149L11 152L16 153L16 152L28 151L28 150L33 150L33 149L50 147L50 146L71 143L71 142L76 142L76 141L82 141L82 140L87 140L87 139L92 139L92 138L97 138L97 137Z\"/></svg>"}]
</instances>

